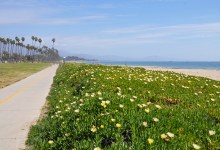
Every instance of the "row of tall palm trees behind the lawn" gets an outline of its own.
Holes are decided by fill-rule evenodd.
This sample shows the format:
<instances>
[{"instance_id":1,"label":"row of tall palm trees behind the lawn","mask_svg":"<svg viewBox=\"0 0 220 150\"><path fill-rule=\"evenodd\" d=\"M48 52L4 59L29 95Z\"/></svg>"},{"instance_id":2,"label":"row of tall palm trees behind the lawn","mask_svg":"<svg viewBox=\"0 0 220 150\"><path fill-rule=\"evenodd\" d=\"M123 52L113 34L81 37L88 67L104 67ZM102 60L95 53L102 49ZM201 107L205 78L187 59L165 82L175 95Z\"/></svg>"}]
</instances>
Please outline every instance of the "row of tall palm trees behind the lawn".
<instances>
[{"instance_id":1,"label":"row of tall palm trees behind the lawn","mask_svg":"<svg viewBox=\"0 0 220 150\"><path fill-rule=\"evenodd\" d=\"M25 45L24 37L16 36L15 39L0 37L0 63L52 62L60 59L59 51L54 49L55 38L52 38L52 48L42 46L43 40L36 36L32 36L31 40L31 45Z\"/></svg>"}]
</instances>

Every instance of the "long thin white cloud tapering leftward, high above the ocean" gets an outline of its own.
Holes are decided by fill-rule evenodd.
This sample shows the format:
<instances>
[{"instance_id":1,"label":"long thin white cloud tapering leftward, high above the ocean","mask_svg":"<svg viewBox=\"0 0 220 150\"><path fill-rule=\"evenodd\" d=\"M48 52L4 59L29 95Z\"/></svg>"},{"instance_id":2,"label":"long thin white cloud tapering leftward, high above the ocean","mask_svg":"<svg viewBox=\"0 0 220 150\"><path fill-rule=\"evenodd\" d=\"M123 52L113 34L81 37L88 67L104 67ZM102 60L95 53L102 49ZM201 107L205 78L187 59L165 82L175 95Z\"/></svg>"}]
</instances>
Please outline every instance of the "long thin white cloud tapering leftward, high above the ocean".
<instances>
[{"instance_id":1,"label":"long thin white cloud tapering leftward, high above the ocean","mask_svg":"<svg viewBox=\"0 0 220 150\"><path fill-rule=\"evenodd\" d=\"M186 37L186 35L191 37L211 37L212 35L215 36L216 34L220 34L220 22L170 26L139 25L134 27L109 29L102 32L109 35L138 36L142 38Z\"/></svg>"}]
</instances>

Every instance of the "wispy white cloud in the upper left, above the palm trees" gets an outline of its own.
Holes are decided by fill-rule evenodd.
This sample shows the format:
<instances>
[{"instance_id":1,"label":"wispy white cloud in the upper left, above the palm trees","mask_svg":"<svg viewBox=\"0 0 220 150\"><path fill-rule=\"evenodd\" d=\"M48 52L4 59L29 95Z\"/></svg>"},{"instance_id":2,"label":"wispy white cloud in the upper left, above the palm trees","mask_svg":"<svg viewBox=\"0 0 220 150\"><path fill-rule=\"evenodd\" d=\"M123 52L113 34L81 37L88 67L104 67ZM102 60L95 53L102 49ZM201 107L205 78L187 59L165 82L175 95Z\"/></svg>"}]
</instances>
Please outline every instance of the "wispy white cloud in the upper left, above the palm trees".
<instances>
[{"instance_id":1,"label":"wispy white cloud in the upper left, above the palm trees","mask_svg":"<svg viewBox=\"0 0 220 150\"><path fill-rule=\"evenodd\" d=\"M83 22L100 21L107 18L106 15L81 14L74 16L63 16L66 11L82 8L81 5L57 5L56 1L41 3L37 0L8 0L1 2L0 25L2 24L34 24L34 25L66 25ZM56 7L53 7L55 5ZM100 7L107 7L103 5ZM83 6L84 7L84 6ZM73 13L73 12L72 12Z\"/></svg>"}]
</instances>

